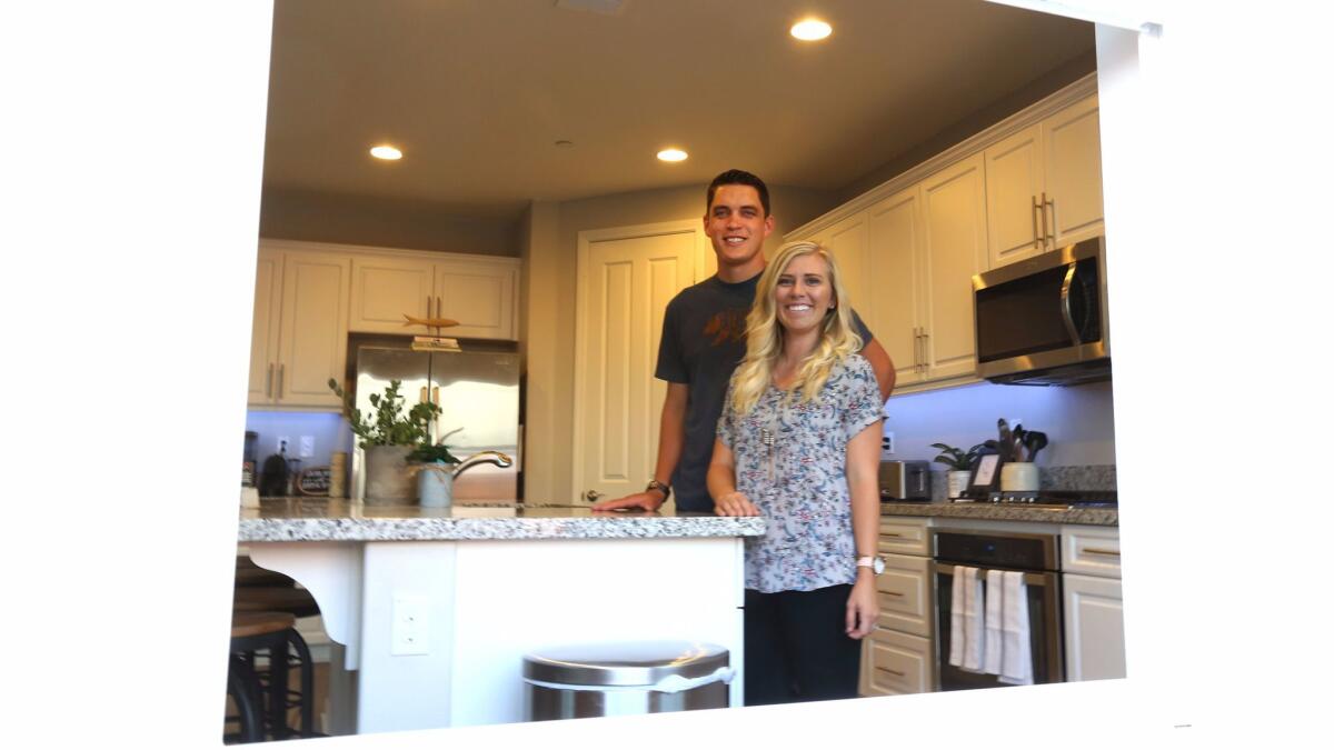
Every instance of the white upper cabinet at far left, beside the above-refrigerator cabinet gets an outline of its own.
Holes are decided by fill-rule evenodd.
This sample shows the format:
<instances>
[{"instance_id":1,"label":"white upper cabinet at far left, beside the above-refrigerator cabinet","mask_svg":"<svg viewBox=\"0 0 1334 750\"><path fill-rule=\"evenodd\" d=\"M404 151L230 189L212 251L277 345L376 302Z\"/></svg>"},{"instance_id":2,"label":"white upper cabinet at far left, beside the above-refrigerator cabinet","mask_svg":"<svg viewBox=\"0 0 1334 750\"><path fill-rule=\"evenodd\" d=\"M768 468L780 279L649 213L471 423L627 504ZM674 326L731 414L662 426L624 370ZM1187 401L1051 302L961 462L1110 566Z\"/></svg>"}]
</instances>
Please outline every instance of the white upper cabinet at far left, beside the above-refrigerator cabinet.
<instances>
[{"instance_id":1,"label":"white upper cabinet at far left, beside the above-refrigerator cabinet","mask_svg":"<svg viewBox=\"0 0 1334 750\"><path fill-rule=\"evenodd\" d=\"M255 272L251 328L252 407L339 408L329 378L347 360L346 255L264 244Z\"/></svg>"}]
</instances>

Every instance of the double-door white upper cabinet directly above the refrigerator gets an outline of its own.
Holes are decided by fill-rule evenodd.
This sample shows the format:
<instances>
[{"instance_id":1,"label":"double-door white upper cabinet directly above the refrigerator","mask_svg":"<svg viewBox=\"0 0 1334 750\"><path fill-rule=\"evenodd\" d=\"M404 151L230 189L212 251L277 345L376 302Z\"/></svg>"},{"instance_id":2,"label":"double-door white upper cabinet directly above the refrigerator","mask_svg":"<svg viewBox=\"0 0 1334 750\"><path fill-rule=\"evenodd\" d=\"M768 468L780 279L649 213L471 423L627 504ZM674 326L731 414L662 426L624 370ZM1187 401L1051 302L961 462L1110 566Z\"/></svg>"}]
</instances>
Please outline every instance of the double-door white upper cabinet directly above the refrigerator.
<instances>
[{"instance_id":1,"label":"double-door white upper cabinet directly above the refrigerator","mask_svg":"<svg viewBox=\"0 0 1334 750\"><path fill-rule=\"evenodd\" d=\"M448 318L459 324L446 336L516 338L519 262L440 252L363 252L352 259L352 314L360 334L434 334L404 326L404 315Z\"/></svg>"}]
</instances>

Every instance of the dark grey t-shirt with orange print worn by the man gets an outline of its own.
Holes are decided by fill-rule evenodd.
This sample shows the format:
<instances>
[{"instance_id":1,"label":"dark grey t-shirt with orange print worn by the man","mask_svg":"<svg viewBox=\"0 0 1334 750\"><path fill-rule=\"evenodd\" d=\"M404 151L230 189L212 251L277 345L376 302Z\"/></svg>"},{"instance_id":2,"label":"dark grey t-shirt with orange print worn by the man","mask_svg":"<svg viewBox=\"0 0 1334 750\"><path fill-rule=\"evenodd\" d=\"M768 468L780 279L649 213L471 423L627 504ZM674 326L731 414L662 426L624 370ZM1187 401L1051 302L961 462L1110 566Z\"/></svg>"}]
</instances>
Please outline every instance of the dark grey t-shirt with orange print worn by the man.
<instances>
[{"instance_id":1,"label":"dark grey t-shirt with orange print worn by the man","mask_svg":"<svg viewBox=\"0 0 1334 750\"><path fill-rule=\"evenodd\" d=\"M663 338L658 344L654 375L668 383L690 386L686 402L686 444L672 472L676 510L711 512L706 476L714 455L714 431L723 411L723 395L732 370L746 355L746 315L755 302L760 274L728 284L718 276L686 287L667 303ZM863 346L871 331L852 314Z\"/></svg>"}]
</instances>

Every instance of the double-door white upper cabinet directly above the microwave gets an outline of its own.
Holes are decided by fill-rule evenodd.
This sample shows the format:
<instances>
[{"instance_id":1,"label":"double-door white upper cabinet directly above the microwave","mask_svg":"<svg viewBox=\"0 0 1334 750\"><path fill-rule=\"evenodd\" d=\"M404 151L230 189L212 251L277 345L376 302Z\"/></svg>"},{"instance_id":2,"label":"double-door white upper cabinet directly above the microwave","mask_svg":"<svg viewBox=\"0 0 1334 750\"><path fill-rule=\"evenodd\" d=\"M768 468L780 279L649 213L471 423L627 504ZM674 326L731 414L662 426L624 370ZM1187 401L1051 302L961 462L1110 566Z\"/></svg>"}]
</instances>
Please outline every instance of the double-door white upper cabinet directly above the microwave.
<instances>
[{"instance_id":1,"label":"double-door white upper cabinet directly above the microwave","mask_svg":"<svg viewBox=\"0 0 1334 750\"><path fill-rule=\"evenodd\" d=\"M1097 95L988 145L984 157L991 268L1102 234Z\"/></svg>"}]
</instances>

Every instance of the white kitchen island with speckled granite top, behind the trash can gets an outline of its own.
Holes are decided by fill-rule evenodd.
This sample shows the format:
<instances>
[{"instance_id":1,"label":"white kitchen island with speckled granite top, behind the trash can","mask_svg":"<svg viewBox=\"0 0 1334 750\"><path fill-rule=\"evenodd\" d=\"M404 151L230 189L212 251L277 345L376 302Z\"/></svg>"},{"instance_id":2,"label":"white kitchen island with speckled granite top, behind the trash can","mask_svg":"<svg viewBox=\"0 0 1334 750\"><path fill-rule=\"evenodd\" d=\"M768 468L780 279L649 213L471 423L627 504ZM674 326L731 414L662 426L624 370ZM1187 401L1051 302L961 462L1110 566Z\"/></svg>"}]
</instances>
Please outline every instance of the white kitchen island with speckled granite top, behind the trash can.
<instances>
[{"instance_id":1,"label":"white kitchen island with speckled granite top, behind the trash can","mask_svg":"<svg viewBox=\"0 0 1334 750\"><path fill-rule=\"evenodd\" d=\"M328 729L518 722L523 655L700 641L731 651L740 705L743 538L759 518L568 506L243 508L251 559L308 589L336 649Z\"/></svg>"}]
</instances>

